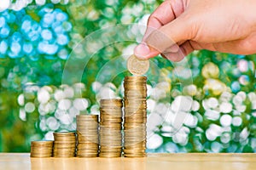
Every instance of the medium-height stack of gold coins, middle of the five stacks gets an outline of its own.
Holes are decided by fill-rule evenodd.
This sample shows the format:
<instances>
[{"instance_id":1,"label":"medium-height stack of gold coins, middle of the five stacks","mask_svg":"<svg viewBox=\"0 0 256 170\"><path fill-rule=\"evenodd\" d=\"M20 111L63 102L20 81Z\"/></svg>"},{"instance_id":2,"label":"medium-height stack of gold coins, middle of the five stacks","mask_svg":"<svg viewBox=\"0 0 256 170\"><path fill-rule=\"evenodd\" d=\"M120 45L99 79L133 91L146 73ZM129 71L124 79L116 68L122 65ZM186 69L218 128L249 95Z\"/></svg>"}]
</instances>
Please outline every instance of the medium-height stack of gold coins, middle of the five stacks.
<instances>
[{"instance_id":1,"label":"medium-height stack of gold coins, middle of the five stacks","mask_svg":"<svg viewBox=\"0 0 256 170\"><path fill-rule=\"evenodd\" d=\"M77 116L77 156L96 157L99 150L98 138L98 116L79 115Z\"/></svg>"}]
</instances>

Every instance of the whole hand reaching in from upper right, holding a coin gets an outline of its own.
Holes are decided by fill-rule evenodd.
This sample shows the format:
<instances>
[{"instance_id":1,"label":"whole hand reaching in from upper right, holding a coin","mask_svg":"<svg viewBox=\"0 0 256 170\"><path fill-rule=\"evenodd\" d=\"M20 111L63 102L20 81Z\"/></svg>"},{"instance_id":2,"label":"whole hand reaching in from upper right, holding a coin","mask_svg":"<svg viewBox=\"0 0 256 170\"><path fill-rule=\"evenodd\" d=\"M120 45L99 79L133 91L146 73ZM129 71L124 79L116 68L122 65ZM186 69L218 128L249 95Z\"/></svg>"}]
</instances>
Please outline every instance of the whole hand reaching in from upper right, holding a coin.
<instances>
[{"instance_id":1,"label":"whole hand reaching in from upper right, holding a coin","mask_svg":"<svg viewBox=\"0 0 256 170\"><path fill-rule=\"evenodd\" d=\"M256 53L255 0L168 0L148 19L134 51L139 59L161 54L180 61L194 50Z\"/></svg>"}]
</instances>

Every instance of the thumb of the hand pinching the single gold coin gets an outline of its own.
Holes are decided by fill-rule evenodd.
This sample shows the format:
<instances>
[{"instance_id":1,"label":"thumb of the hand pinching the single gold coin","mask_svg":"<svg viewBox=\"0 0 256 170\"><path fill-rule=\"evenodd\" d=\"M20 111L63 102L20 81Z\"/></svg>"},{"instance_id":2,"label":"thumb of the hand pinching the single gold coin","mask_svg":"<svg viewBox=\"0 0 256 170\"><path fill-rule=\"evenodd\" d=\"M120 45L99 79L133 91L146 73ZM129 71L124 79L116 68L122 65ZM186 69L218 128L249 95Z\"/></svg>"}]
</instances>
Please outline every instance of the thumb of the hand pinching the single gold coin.
<instances>
[{"instance_id":1,"label":"thumb of the hand pinching the single gold coin","mask_svg":"<svg viewBox=\"0 0 256 170\"><path fill-rule=\"evenodd\" d=\"M158 54L177 53L177 42L189 39L189 24L178 17L176 20L151 32L140 45L135 48L135 55L140 59L153 58Z\"/></svg>"}]
</instances>

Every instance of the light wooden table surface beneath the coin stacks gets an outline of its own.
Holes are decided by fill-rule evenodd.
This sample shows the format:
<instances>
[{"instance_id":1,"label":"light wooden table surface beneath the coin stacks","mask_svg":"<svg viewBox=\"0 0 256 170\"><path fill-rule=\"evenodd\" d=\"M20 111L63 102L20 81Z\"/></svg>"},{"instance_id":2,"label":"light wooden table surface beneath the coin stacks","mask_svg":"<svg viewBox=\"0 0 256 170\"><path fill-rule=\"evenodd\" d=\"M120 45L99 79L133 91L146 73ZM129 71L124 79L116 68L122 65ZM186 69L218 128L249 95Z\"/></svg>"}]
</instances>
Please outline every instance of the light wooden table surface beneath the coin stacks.
<instances>
[{"instance_id":1,"label":"light wooden table surface beneath the coin stacks","mask_svg":"<svg viewBox=\"0 0 256 170\"><path fill-rule=\"evenodd\" d=\"M0 153L0 169L90 170L256 170L256 154L148 154L145 158L30 158Z\"/></svg>"}]
</instances>

